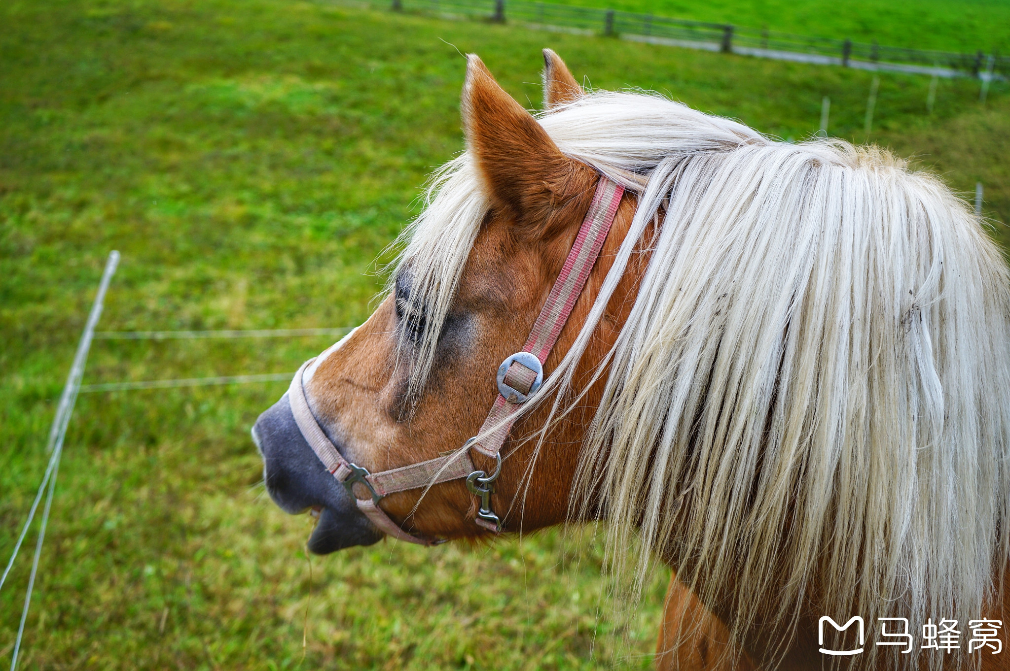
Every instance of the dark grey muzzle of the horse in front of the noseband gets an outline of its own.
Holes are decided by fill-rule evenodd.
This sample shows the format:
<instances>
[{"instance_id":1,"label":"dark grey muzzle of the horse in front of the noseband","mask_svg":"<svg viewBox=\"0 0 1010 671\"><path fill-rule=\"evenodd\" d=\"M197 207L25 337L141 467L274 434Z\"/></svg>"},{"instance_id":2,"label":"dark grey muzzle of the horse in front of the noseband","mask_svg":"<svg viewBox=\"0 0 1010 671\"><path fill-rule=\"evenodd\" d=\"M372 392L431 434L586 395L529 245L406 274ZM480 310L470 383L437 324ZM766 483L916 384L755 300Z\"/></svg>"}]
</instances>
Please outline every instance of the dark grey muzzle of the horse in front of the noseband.
<instances>
[{"instance_id":1,"label":"dark grey muzzle of the horse in front of the noseband","mask_svg":"<svg viewBox=\"0 0 1010 671\"><path fill-rule=\"evenodd\" d=\"M305 442L287 394L252 425L252 442L263 457L267 492L281 510L297 515L311 507L322 508L308 541L310 552L323 555L372 545L383 537Z\"/></svg>"}]
</instances>

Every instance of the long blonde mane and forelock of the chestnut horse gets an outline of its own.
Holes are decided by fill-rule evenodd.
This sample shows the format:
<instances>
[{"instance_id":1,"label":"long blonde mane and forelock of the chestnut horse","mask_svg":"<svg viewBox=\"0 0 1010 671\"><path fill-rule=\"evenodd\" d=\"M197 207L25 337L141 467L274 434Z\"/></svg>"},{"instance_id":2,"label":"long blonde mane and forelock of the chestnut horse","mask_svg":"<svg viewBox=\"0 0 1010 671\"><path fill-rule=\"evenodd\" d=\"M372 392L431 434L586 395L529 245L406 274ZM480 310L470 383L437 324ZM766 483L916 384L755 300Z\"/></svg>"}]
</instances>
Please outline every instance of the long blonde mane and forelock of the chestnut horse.
<instances>
[{"instance_id":1,"label":"long blonde mane and forelock of the chestnut horse","mask_svg":"<svg viewBox=\"0 0 1010 671\"><path fill-rule=\"evenodd\" d=\"M594 93L538 120L639 200L538 395L553 417L659 223L600 367L583 453L609 458L580 469L573 499L602 494L632 591L662 555L738 613L734 635L760 622L783 651L801 611L860 614L870 632L881 617L984 617L1010 540L1010 276L967 205L883 150L774 141L658 96ZM427 314L415 390L487 213L476 170L469 153L447 163L405 232L400 263Z\"/></svg>"}]
</instances>

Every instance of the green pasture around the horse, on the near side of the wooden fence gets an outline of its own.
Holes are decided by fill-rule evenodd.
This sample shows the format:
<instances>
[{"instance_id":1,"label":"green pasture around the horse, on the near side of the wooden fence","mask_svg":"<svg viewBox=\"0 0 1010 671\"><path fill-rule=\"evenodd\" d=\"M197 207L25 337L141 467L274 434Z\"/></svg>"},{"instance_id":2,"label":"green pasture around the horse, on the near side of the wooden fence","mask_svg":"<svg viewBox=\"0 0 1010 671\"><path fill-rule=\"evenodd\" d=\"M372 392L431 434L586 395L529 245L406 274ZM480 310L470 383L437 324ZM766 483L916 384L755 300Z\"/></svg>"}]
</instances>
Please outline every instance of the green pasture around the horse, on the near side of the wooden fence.
<instances>
[{"instance_id":1,"label":"green pasture around the horse, on the near side of the wooden fence","mask_svg":"<svg viewBox=\"0 0 1010 671\"><path fill-rule=\"evenodd\" d=\"M373 259L462 147L464 61L445 42L531 108L552 46L594 86L782 137L815 131L829 95L831 133L866 139L870 76L838 68L280 0L14 2L0 21L3 561L108 250L123 260L103 329L359 323ZM956 189L982 181L987 214L1010 219L1006 84L983 107L978 83L940 82L930 117L927 79L881 82L871 139ZM288 371L327 344L99 341L85 381ZM309 519L266 497L247 433L284 388L82 395L21 668L649 666L667 576L613 612L592 533L383 543L310 571ZM0 592L0 656L27 568Z\"/></svg>"}]
</instances>

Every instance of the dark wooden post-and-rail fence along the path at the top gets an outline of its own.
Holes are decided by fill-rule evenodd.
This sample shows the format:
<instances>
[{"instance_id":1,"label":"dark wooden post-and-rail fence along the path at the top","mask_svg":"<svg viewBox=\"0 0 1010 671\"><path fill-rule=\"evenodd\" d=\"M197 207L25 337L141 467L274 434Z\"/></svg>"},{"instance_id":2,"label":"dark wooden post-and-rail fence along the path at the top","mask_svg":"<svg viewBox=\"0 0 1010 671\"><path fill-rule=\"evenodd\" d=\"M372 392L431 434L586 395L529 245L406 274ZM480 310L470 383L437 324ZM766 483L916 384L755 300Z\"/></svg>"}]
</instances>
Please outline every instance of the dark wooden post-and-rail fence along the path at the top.
<instances>
[{"instance_id":1,"label":"dark wooden post-and-rail fence along the path at the top","mask_svg":"<svg viewBox=\"0 0 1010 671\"><path fill-rule=\"evenodd\" d=\"M370 4L390 6L383 0L373 0ZM1010 57L987 54L981 50L958 53L886 46L877 42L809 37L728 23L688 21L614 9L529 0L392 0L392 8L450 18L507 20L565 32L619 35L634 41L849 66L864 70L893 70L947 77L964 75L982 79L1010 75Z\"/></svg>"}]
</instances>

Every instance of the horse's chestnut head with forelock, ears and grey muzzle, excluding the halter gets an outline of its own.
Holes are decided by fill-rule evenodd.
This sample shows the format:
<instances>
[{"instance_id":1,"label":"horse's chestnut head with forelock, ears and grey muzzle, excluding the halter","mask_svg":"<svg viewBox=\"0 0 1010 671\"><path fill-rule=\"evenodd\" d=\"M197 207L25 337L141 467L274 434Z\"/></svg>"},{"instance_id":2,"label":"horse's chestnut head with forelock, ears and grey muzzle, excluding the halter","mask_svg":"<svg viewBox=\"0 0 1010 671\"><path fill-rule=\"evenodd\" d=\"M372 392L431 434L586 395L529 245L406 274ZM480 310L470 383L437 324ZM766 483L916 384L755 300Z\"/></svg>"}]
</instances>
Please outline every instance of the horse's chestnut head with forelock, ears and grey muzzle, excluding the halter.
<instances>
[{"instance_id":1,"label":"horse's chestnut head with forelock, ears and grey muzzle, excluding the halter","mask_svg":"<svg viewBox=\"0 0 1010 671\"><path fill-rule=\"evenodd\" d=\"M582 97L561 59L545 49L544 60L548 110ZM499 394L496 370L522 349L600 180L595 170L563 153L474 55L463 117L468 152L412 228L389 296L303 376L312 415L329 440L345 459L372 473L435 458L478 434ZM623 199L600 261L544 362L548 376L582 330L633 211L634 199ZM433 221L437 217L444 220ZM619 331L633 287L633 274L627 277L616 291L616 309L605 315L587 348L582 376ZM589 394L587 408L594 394L599 389ZM494 491L506 531L530 531L568 518L587 422L584 416L570 417L540 440L529 439L548 413L540 404L511 431ZM252 435L274 500L289 513L319 512L312 551L367 545L383 536L310 449L296 425L290 394L260 417ZM495 466L481 455L475 461L489 472ZM381 507L411 533L452 539L489 534L475 524L477 504L466 483L456 480L390 494Z\"/></svg>"}]
</instances>

